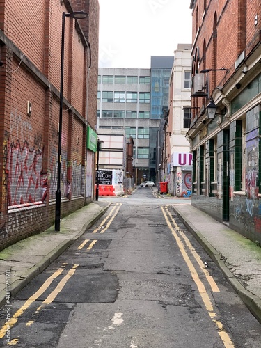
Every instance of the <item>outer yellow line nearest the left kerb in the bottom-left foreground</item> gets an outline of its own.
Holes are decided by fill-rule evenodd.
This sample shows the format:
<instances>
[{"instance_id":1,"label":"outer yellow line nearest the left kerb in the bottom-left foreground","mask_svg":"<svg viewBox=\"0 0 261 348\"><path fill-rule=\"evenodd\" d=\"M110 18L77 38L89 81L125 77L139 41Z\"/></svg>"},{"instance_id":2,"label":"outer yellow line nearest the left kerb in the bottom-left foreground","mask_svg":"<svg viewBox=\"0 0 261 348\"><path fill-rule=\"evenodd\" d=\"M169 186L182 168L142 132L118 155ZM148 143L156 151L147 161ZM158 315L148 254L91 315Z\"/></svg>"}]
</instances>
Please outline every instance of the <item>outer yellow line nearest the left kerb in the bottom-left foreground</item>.
<instances>
[{"instance_id":1,"label":"outer yellow line nearest the left kerb in the bottom-left foreground","mask_svg":"<svg viewBox=\"0 0 261 348\"><path fill-rule=\"evenodd\" d=\"M24 305L19 308L13 315L13 317L8 321L8 323L4 324L0 330L0 338L3 338L4 335L6 335L6 331L10 329L12 326L15 325L18 318L24 313L24 311L31 306L31 303L33 303L35 300L38 299L38 297L47 290L47 287L52 283L52 281L57 278L61 273L63 272L63 269L57 269L57 271L52 274L47 280L45 280L45 283L42 284L40 289L38 289L35 294L33 294L29 299L24 303Z\"/></svg>"}]
</instances>

